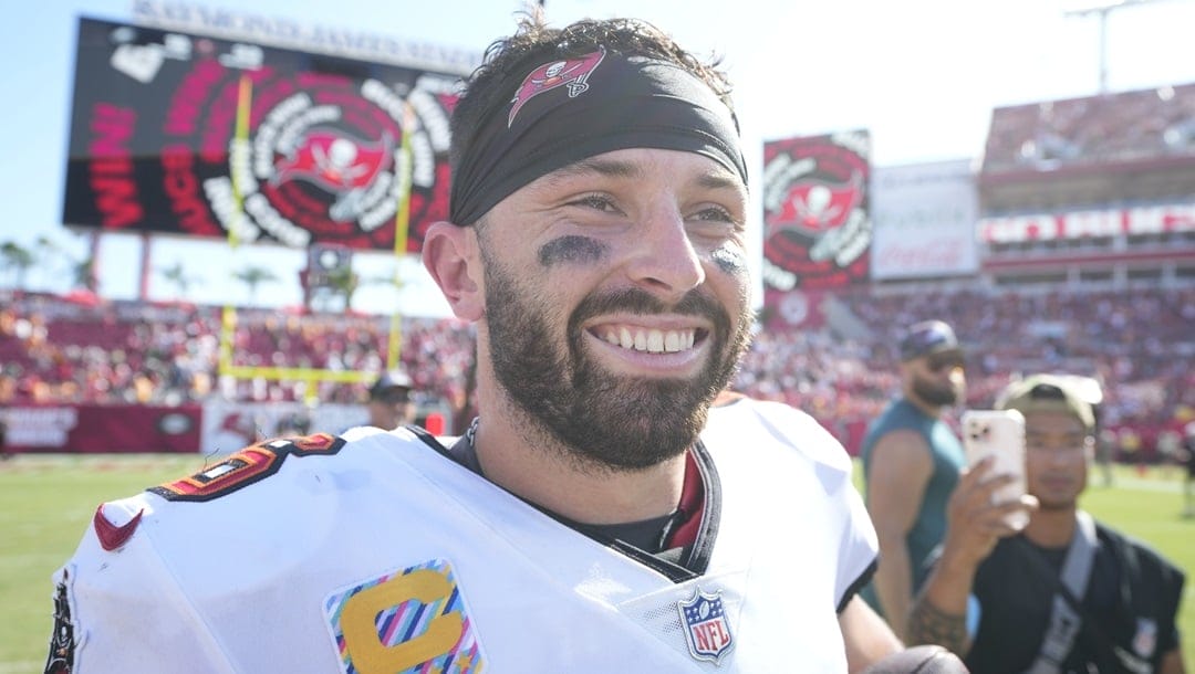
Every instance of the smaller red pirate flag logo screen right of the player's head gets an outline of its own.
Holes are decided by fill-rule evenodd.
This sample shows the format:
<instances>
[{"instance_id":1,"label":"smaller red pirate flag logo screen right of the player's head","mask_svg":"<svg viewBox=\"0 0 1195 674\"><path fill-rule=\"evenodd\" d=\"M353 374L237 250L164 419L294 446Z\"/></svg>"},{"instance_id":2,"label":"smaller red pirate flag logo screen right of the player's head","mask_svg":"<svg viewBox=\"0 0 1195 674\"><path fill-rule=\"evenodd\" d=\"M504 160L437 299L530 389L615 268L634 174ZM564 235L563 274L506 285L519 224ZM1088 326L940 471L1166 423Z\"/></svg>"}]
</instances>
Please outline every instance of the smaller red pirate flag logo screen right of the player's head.
<instances>
[{"instance_id":1,"label":"smaller red pirate flag logo screen right of the player's head","mask_svg":"<svg viewBox=\"0 0 1195 674\"><path fill-rule=\"evenodd\" d=\"M766 301L868 280L870 144L866 131L764 143Z\"/></svg>"}]
</instances>

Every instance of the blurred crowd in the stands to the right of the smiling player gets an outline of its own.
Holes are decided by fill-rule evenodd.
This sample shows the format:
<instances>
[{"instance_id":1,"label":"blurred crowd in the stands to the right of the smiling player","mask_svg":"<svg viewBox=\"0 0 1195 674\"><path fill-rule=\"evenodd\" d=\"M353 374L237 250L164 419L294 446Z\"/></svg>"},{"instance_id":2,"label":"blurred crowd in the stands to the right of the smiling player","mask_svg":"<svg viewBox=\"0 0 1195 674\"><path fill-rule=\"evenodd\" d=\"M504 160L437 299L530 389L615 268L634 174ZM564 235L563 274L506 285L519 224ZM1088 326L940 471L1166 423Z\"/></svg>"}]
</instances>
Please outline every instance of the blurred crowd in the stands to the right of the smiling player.
<instances>
[{"instance_id":1,"label":"blurred crowd in the stands to the right of the smiling player","mask_svg":"<svg viewBox=\"0 0 1195 674\"><path fill-rule=\"evenodd\" d=\"M868 336L760 335L740 388L809 412L848 449L899 388L893 335L931 317L950 322L967 345L972 407L989 407L1011 377L1055 371L1101 381L1104 423L1140 440L1146 455L1160 432L1195 419L1193 287L859 292L836 301Z\"/></svg>"}]
</instances>

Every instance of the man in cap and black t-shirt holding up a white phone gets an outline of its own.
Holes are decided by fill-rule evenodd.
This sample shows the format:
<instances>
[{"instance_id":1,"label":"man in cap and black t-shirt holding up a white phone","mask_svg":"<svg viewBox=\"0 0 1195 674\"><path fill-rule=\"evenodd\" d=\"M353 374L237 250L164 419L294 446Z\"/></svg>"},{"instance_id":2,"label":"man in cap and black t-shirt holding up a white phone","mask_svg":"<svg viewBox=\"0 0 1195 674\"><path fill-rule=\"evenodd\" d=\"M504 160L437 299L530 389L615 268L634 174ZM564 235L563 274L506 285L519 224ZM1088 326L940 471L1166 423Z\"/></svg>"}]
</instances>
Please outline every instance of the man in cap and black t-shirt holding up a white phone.
<instances>
[{"instance_id":1,"label":"man in cap and black t-shirt holding up a white phone","mask_svg":"<svg viewBox=\"0 0 1195 674\"><path fill-rule=\"evenodd\" d=\"M994 497L1015 477L992 457L963 472L913 602L911 643L940 644L973 674L1182 673L1183 571L1078 506L1096 423L1074 379L1028 377L995 407L1024 415L1029 493ZM1006 521L1015 512L1029 514L1019 532Z\"/></svg>"}]
</instances>

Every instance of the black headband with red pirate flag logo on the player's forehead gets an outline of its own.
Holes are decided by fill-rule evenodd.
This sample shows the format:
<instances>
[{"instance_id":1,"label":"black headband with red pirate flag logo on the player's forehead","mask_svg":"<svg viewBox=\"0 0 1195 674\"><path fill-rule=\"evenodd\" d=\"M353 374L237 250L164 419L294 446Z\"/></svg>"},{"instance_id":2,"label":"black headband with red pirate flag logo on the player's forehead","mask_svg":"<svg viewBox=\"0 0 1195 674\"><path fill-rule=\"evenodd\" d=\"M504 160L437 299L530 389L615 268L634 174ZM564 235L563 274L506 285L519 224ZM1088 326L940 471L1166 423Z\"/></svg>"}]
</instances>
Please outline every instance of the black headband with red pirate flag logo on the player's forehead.
<instances>
[{"instance_id":1,"label":"black headband with red pirate flag logo on the player's forehead","mask_svg":"<svg viewBox=\"0 0 1195 674\"><path fill-rule=\"evenodd\" d=\"M739 123L679 66L599 49L545 63L490 115L452 177L449 218L477 222L516 190L586 157L629 148L692 152L742 178Z\"/></svg>"}]
</instances>

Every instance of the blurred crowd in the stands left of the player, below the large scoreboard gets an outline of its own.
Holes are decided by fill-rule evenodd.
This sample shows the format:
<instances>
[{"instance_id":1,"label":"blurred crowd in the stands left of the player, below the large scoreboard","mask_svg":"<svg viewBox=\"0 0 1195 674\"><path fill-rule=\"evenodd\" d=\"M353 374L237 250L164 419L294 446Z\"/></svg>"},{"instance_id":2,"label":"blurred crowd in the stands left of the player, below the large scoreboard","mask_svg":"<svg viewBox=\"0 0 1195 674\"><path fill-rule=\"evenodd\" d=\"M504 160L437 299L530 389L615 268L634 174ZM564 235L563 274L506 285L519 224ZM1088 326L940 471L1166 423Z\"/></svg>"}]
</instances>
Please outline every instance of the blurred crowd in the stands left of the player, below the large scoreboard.
<instances>
[{"instance_id":1,"label":"blurred crowd in the stands left of the player, below the large scoreboard","mask_svg":"<svg viewBox=\"0 0 1195 674\"><path fill-rule=\"evenodd\" d=\"M8 297L0 309L0 404L306 397L302 379L220 377L221 328L222 310L216 307L78 305L51 295ZM454 321L423 319L404 319L400 330L402 365L418 390L460 400L472 363L472 333ZM384 316L240 310L231 339L232 365L375 375L386 369L390 332ZM368 381L324 384L317 394L320 402L356 402L363 400Z\"/></svg>"}]
</instances>

